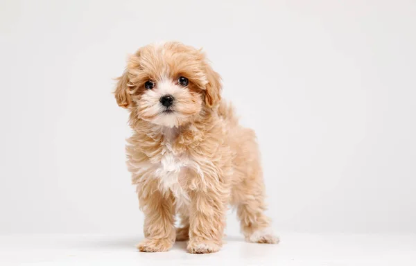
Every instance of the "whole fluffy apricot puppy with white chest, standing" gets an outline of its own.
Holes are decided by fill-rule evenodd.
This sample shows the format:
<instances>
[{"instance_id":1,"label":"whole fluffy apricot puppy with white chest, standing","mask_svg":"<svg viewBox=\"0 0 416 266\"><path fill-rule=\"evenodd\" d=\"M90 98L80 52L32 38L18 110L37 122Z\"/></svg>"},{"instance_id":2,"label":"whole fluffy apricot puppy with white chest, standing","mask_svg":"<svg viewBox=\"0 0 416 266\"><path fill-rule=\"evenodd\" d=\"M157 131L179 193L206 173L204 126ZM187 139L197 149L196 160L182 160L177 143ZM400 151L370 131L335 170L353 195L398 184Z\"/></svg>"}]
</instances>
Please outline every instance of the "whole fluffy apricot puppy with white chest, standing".
<instances>
[{"instance_id":1,"label":"whole fluffy apricot puppy with white chest, standing","mask_svg":"<svg viewBox=\"0 0 416 266\"><path fill-rule=\"evenodd\" d=\"M139 48L119 77L115 98L134 132L128 170L146 217L140 251L167 251L175 240L189 240L191 253L218 251L229 204L247 241L278 242L263 213L256 136L220 93L205 54L179 42Z\"/></svg>"}]
</instances>

